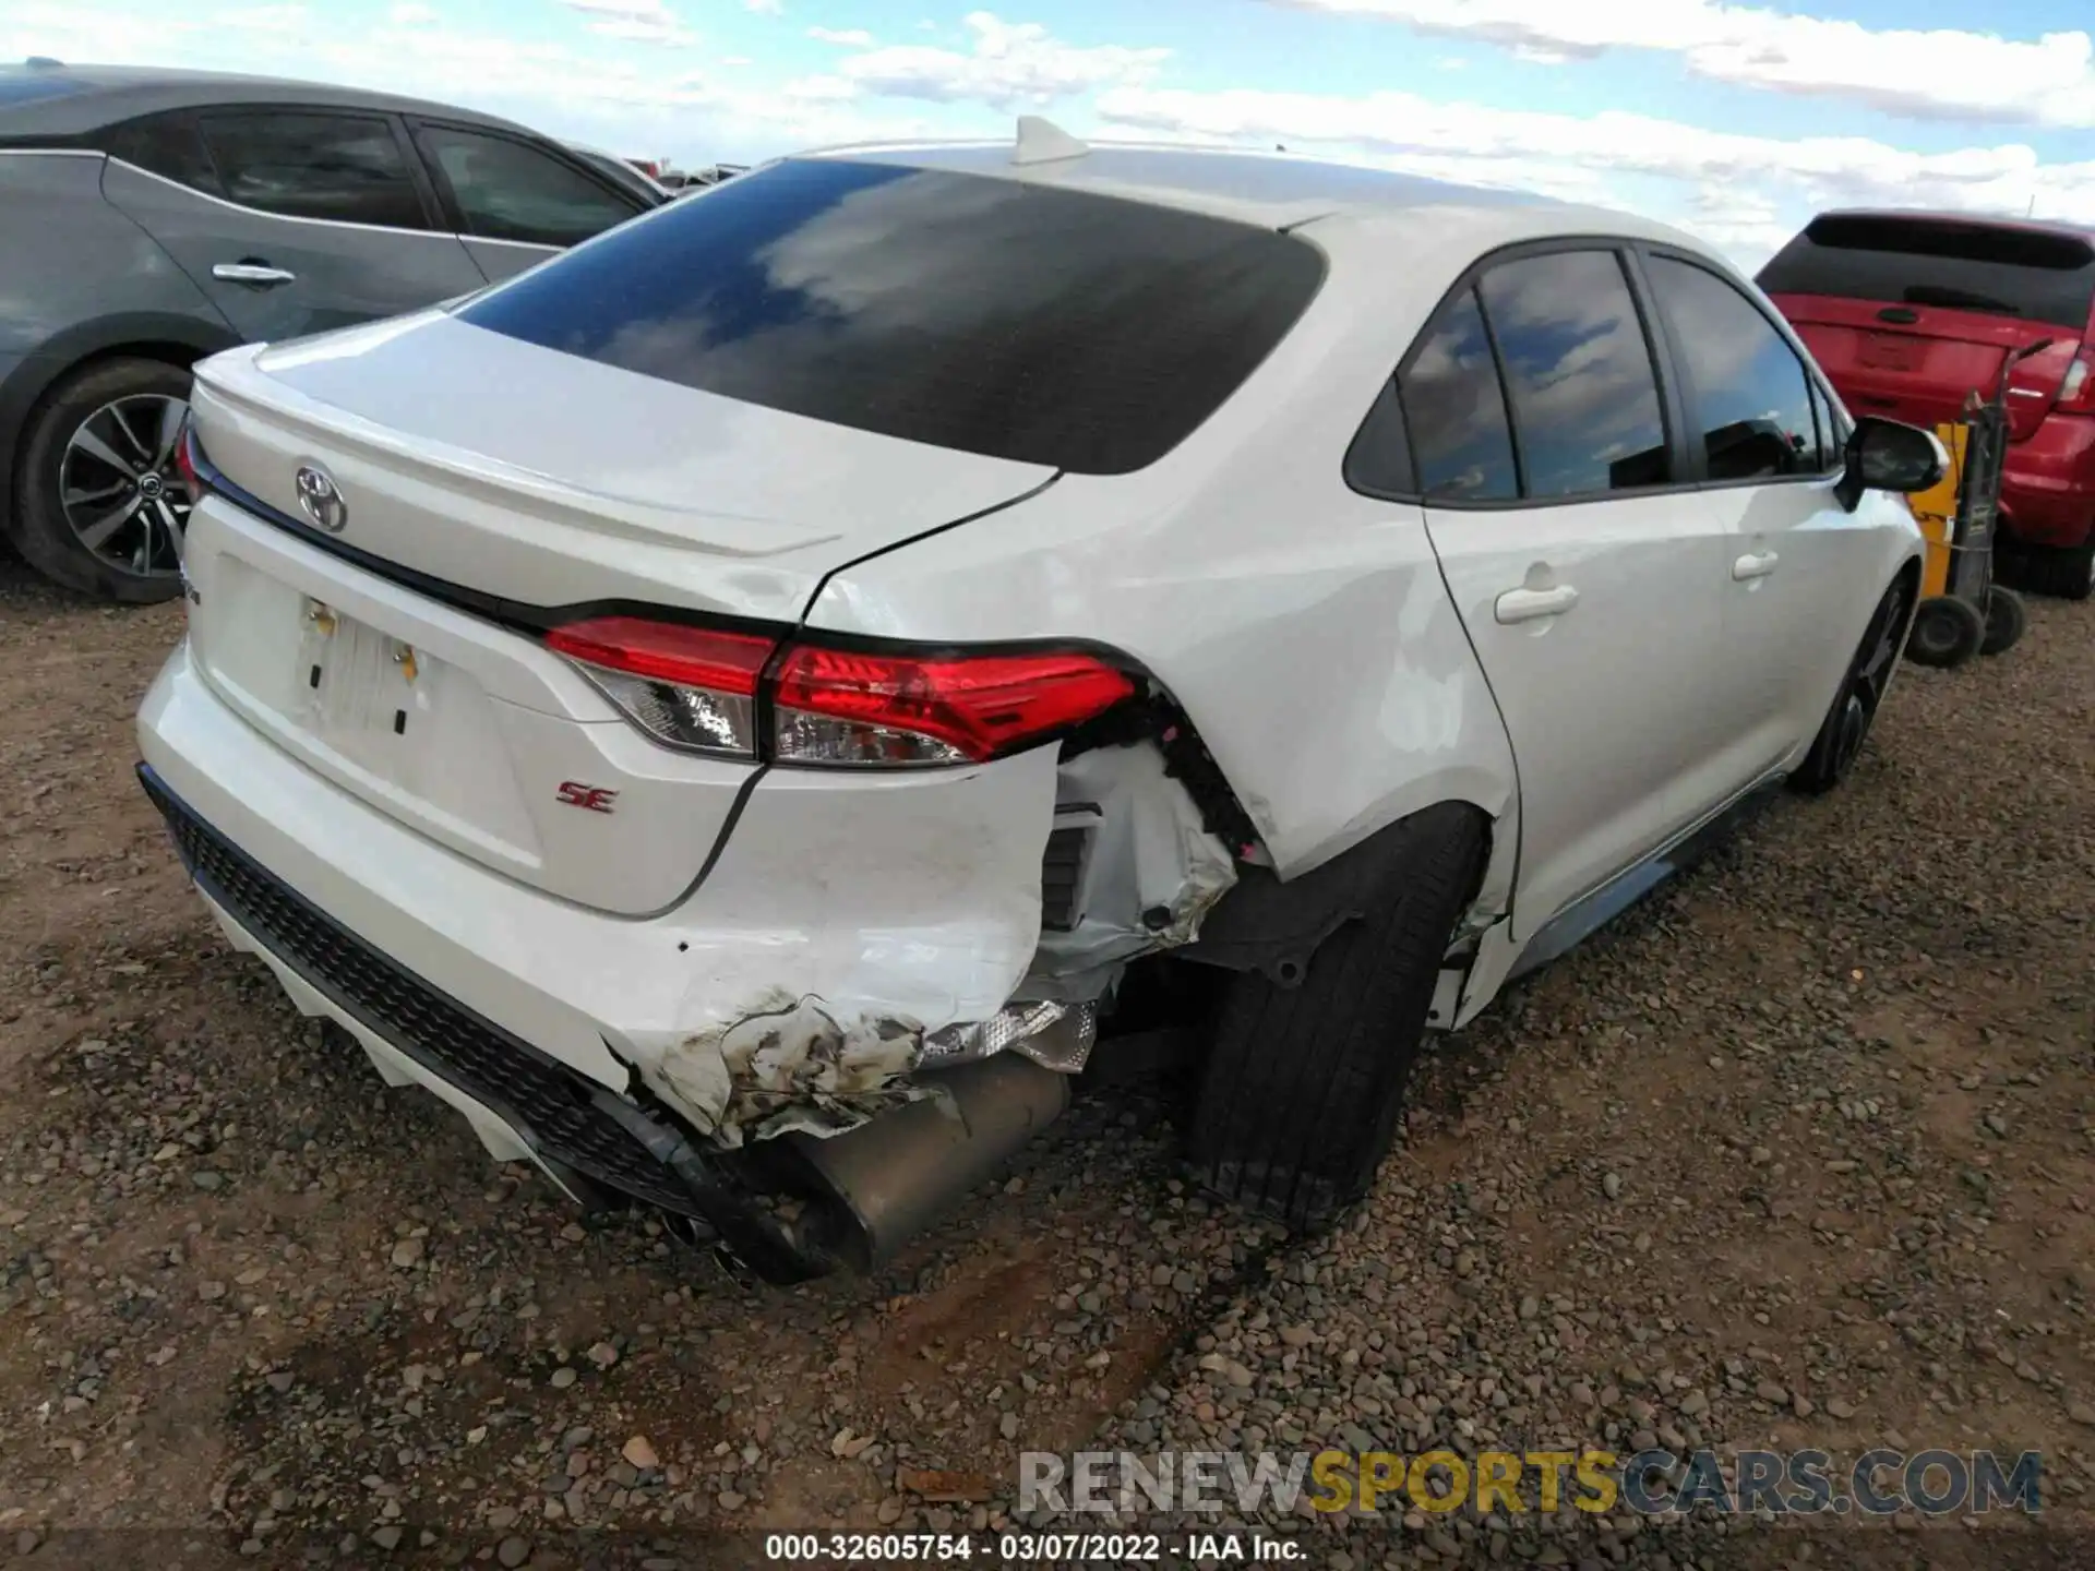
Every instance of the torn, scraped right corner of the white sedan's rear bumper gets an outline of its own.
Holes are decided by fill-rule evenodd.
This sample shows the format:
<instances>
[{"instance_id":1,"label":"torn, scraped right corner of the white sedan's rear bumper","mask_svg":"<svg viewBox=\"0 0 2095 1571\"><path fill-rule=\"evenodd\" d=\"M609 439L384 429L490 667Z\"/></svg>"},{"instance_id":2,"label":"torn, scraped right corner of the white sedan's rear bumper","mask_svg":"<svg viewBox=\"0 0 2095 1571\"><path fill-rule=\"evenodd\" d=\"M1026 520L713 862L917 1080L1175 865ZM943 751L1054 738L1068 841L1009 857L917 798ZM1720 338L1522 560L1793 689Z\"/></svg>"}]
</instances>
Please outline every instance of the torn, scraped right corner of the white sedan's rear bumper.
<instances>
[{"instance_id":1,"label":"torn, scraped right corner of the white sedan's rear bumper","mask_svg":"<svg viewBox=\"0 0 2095 1571\"><path fill-rule=\"evenodd\" d=\"M836 1133L922 1091L1039 941L1056 748L909 773L773 769L693 897L672 1028L614 1043L721 1146ZM714 926L716 924L716 926Z\"/></svg>"}]
</instances>

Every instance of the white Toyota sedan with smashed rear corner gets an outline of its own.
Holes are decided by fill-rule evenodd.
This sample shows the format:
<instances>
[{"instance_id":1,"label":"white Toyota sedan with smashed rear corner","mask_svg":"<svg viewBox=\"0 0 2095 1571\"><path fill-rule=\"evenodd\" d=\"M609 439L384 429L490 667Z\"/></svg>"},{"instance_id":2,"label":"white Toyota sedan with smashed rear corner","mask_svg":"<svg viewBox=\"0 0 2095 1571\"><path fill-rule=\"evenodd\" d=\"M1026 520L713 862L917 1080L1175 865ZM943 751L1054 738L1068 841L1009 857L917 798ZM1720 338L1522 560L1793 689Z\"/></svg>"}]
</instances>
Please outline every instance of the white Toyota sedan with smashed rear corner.
<instances>
[{"instance_id":1,"label":"white Toyota sedan with smashed rear corner","mask_svg":"<svg viewBox=\"0 0 2095 1571\"><path fill-rule=\"evenodd\" d=\"M892 1255L1159 999L1203 1181L1316 1227L1425 1031L1848 773L1942 463L1638 218L790 157L203 362L140 773L335 1041L765 1276Z\"/></svg>"}]
</instances>

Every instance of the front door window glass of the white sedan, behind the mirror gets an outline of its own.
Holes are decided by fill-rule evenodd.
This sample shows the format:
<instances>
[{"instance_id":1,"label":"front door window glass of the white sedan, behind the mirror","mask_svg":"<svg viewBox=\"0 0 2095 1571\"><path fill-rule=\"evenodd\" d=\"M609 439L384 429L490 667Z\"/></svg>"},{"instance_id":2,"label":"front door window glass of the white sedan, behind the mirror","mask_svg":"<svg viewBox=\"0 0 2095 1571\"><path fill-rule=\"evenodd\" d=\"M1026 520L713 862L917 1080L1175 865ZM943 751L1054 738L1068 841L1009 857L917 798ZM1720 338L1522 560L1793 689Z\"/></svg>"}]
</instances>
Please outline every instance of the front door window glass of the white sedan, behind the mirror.
<instances>
[{"instance_id":1,"label":"front door window glass of the white sedan, behind the mirror","mask_svg":"<svg viewBox=\"0 0 2095 1571\"><path fill-rule=\"evenodd\" d=\"M1712 480L1818 473L1804 362L1754 304L1705 268L1651 258L1651 289L1695 392Z\"/></svg>"}]
</instances>

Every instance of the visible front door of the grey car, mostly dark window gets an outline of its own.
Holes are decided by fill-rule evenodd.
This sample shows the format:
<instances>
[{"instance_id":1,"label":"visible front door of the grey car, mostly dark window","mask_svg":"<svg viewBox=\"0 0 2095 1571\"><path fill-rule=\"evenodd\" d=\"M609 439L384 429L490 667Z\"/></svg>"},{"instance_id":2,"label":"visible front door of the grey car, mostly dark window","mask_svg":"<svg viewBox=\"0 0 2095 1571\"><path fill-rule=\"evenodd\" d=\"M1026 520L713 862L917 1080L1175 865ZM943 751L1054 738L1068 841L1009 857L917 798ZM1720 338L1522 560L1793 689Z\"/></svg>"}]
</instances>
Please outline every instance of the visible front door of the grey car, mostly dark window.
<instances>
[{"instance_id":1,"label":"visible front door of the grey car, mostly dark window","mask_svg":"<svg viewBox=\"0 0 2095 1571\"><path fill-rule=\"evenodd\" d=\"M559 149L440 119L413 128L429 180L492 281L645 212L631 191Z\"/></svg>"}]
</instances>

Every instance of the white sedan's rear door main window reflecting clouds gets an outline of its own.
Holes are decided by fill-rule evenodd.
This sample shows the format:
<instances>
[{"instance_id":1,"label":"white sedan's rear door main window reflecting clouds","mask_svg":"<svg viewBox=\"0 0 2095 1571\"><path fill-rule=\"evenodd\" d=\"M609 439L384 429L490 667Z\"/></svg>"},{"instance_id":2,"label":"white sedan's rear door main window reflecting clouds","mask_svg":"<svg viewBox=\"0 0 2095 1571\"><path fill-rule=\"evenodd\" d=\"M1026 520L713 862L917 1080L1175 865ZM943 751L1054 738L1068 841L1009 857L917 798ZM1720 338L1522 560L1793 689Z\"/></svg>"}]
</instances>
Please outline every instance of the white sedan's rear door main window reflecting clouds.
<instances>
[{"instance_id":1,"label":"white sedan's rear door main window reflecting clouds","mask_svg":"<svg viewBox=\"0 0 2095 1571\"><path fill-rule=\"evenodd\" d=\"M1483 274L1529 496L1663 486L1666 421L1613 251L1557 251Z\"/></svg>"}]
</instances>

